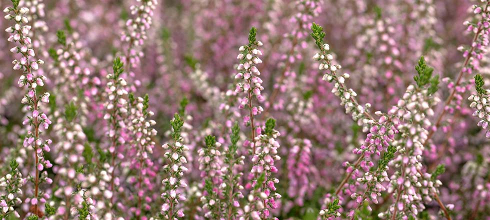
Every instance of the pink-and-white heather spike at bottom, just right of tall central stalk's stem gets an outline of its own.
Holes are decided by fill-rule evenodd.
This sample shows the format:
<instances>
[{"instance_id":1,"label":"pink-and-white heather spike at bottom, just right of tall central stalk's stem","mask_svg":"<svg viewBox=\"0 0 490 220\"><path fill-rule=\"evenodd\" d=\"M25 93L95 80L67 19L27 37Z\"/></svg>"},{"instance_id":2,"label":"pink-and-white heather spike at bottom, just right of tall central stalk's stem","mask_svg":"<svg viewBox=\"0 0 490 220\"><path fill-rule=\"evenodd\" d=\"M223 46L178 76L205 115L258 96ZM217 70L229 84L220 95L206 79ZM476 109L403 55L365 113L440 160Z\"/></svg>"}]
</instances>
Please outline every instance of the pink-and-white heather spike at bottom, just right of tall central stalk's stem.
<instances>
[{"instance_id":1,"label":"pink-and-white heather spike at bottom, just right of tall central stalk's stem","mask_svg":"<svg viewBox=\"0 0 490 220\"><path fill-rule=\"evenodd\" d=\"M250 170L250 175L254 177L247 197L248 204L244 207L245 217L251 219L278 219L270 213L278 207L276 199L281 197L275 192L279 179L272 176L278 171L274 163L280 159L277 155L279 142L276 140L280 133L274 127L275 120L269 118L263 133L255 137L256 152L252 156L253 166Z\"/></svg>"}]
</instances>

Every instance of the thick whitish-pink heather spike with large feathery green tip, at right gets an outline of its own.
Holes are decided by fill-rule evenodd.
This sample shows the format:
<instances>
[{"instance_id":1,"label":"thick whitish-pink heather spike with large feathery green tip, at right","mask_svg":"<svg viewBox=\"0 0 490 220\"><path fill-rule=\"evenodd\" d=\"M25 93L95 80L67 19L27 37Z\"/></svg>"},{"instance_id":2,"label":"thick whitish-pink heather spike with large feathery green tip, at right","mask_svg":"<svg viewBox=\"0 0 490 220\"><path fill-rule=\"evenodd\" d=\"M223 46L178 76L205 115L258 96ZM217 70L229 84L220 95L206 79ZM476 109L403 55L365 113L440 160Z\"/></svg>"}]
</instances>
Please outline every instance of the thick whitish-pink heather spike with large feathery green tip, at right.
<instances>
[{"instance_id":1,"label":"thick whitish-pink heather spike with large feathery green tip, at right","mask_svg":"<svg viewBox=\"0 0 490 220\"><path fill-rule=\"evenodd\" d=\"M397 129L401 138L393 141L400 154L389 163L399 170L390 176L388 185L388 192L393 193L396 200L390 205L387 213L379 214L382 217L417 216L425 209L421 200L430 202L440 186L439 180L427 180L424 175L428 173L421 172L423 143L428 134L425 128L430 127L427 116L434 114L432 107L439 102L439 98L434 95L438 88L438 75L432 76L433 68L425 63L423 56L415 69L418 73L414 77L416 86L409 85L397 105L389 111L391 115L398 115L400 119Z\"/></svg>"}]
</instances>

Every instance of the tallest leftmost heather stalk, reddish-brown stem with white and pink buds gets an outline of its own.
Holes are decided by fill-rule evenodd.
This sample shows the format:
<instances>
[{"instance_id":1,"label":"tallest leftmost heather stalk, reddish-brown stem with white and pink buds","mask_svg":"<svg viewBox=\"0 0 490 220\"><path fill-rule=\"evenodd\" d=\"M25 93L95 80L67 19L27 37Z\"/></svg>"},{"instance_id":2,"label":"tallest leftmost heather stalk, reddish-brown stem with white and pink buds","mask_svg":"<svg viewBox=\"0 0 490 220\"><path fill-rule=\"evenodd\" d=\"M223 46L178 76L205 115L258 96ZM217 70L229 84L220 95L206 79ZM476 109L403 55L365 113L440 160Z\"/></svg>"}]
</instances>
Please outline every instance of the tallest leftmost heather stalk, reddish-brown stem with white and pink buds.
<instances>
[{"instance_id":1,"label":"tallest leftmost heather stalk, reddish-brown stem with white and pink buds","mask_svg":"<svg viewBox=\"0 0 490 220\"><path fill-rule=\"evenodd\" d=\"M5 19L15 22L13 26L9 26L5 29L10 35L8 41L17 43L16 46L10 49L11 52L19 54L20 58L13 60L13 69L20 69L22 75L19 77L17 84L19 87L27 88L27 93L22 98L22 103L27 105L31 115L27 116L23 124L29 125L30 130L25 135L23 145L24 147L32 147L34 149L34 175L30 175L28 179L33 184L33 191L25 201L31 204L30 212L33 215L42 217L43 211L39 207L39 204L45 203L46 198L49 195L44 195L40 188L41 183L51 183L52 180L47 177L47 172L43 171L44 168L49 168L52 164L44 157L44 151L49 152L50 139L43 139L40 137L40 133L43 130L47 130L51 120L47 118L46 114L40 109L41 103L49 102L49 93L45 92L38 95L36 88L44 85L46 76L37 74L39 64L43 64L41 59L34 58L34 50L32 49L32 40L27 36L31 30L30 25L26 25L28 22L26 13L29 11L26 7L19 8L19 0L12 0L13 6L6 7L3 12L7 13Z\"/></svg>"}]
</instances>

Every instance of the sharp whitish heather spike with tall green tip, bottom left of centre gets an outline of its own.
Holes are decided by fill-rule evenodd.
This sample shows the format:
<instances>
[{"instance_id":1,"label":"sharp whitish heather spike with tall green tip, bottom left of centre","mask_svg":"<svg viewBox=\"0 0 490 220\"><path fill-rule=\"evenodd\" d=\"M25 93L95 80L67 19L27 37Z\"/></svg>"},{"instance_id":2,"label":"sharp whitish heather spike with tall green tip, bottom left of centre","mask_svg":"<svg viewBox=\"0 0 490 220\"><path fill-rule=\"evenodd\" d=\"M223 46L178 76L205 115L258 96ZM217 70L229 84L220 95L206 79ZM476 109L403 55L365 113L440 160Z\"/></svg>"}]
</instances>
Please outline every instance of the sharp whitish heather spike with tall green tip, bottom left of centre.
<instances>
[{"instance_id":1,"label":"sharp whitish heather spike with tall green tip, bottom left of centre","mask_svg":"<svg viewBox=\"0 0 490 220\"><path fill-rule=\"evenodd\" d=\"M163 156L168 160L168 164L163 166L163 170L168 173L168 177L161 181L165 188L165 192L161 193L161 198L163 198L164 203L161 205L160 212L166 219L175 219L184 216L184 213L179 209L178 204L180 201L185 200L182 188L187 187L187 184L182 179L182 175L187 171L187 167L184 166L187 159L183 153L188 150L188 147L182 142L183 138L180 136L184 121L177 113L173 116L173 120L170 121L170 124L173 129L173 143L165 143L162 145L163 149L166 150Z\"/></svg>"}]
</instances>

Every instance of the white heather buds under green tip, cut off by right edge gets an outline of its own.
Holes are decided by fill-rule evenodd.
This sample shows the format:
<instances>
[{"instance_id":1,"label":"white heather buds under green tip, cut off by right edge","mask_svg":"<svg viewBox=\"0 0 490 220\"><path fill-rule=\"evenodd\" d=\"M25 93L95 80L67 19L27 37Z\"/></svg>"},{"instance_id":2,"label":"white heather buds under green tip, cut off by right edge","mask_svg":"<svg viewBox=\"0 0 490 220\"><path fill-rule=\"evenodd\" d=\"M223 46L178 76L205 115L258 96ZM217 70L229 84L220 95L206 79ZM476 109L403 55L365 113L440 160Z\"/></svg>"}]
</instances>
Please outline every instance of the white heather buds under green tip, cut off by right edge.
<instances>
[{"instance_id":1,"label":"white heather buds under green tip, cut off by right edge","mask_svg":"<svg viewBox=\"0 0 490 220\"><path fill-rule=\"evenodd\" d=\"M486 92L490 92L490 89L487 89ZM486 94L471 94L468 97L468 100L471 101L469 106L474 108L473 116L478 117L480 120L478 121L478 126L487 129L488 123L490 123L490 99ZM486 131L485 136L490 138L490 129Z\"/></svg>"}]
</instances>

